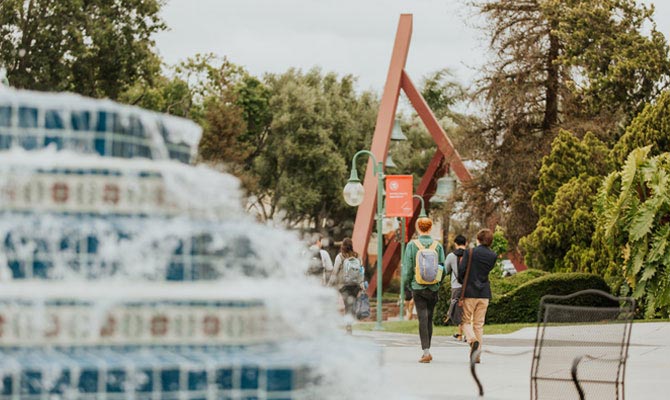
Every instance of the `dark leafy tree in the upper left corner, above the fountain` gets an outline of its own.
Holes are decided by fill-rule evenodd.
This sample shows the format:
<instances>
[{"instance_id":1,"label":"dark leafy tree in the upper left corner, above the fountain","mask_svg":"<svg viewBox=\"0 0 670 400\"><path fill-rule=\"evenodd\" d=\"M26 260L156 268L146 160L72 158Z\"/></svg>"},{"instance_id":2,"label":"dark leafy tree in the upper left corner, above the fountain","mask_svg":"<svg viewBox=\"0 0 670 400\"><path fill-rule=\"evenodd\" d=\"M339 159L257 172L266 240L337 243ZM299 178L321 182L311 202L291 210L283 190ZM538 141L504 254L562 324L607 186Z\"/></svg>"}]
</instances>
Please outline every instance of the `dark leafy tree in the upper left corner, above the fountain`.
<instances>
[{"instance_id":1,"label":"dark leafy tree in the upper left corner, above the fountain","mask_svg":"<svg viewBox=\"0 0 670 400\"><path fill-rule=\"evenodd\" d=\"M0 66L12 86L117 99L152 82L163 0L4 0Z\"/></svg>"}]
</instances>

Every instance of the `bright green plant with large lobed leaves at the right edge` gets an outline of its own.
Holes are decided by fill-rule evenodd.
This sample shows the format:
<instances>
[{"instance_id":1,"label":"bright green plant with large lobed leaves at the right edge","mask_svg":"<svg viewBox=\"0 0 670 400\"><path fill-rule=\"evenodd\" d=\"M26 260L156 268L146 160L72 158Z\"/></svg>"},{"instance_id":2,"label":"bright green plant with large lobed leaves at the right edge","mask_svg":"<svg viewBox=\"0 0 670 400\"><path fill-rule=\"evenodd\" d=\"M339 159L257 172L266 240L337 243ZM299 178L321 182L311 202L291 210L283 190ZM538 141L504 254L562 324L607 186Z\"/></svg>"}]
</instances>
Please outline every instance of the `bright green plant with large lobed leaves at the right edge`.
<instances>
[{"instance_id":1,"label":"bright green plant with large lobed leaves at the right edge","mask_svg":"<svg viewBox=\"0 0 670 400\"><path fill-rule=\"evenodd\" d=\"M637 148L619 171L607 176L598 194L600 237L608 260L642 299L645 315L670 313L670 153L650 156Z\"/></svg>"}]
</instances>

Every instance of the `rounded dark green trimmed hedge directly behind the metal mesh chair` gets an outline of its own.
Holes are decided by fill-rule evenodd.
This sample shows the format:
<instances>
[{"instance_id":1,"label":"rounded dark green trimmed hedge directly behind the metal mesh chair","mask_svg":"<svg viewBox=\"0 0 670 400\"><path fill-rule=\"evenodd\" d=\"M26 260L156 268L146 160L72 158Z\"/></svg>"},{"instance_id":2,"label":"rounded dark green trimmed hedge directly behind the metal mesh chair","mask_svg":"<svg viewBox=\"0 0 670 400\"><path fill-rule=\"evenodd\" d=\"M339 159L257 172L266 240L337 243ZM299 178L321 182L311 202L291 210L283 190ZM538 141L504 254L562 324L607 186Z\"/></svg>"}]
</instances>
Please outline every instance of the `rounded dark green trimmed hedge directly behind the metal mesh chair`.
<instances>
[{"instance_id":1,"label":"rounded dark green trimmed hedge directly behind the metal mesh chair","mask_svg":"<svg viewBox=\"0 0 670 400\"><path fill-rule=\"evenodd\" d=\"M486 322L536 322L540 299L545 294L567 295L584 289L610 293L605 280L594 274L549 274L519 286L498 298L493 298L486 312Z\"/></svg>"}]
</instances>

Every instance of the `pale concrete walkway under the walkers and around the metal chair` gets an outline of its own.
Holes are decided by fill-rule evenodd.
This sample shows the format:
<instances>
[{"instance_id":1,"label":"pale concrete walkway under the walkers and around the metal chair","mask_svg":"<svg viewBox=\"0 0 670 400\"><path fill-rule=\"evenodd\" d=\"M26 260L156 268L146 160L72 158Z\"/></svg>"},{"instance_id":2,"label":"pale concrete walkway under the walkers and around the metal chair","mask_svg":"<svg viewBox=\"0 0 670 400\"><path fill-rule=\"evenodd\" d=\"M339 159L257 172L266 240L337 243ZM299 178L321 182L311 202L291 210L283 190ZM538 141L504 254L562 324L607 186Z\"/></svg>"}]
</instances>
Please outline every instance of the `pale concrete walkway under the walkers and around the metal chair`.
<instances>
[{"instance_id":1,"label":"pale concrete walkway under the walkers and around the metal chair","mask_svg":"<svg viewBox=\"0 0 670 400\"><path fill-rule=\"evenodd\" d=\"M486 328L485 328L486 330ZM418 335L355 331L383 348L385 379L399 390L425 400L476 399L470 375L469 347L448 337L434 337L433 362L419 364ZM478 374L487 399L530 398L530 365L535 328L507 335L485 335L486 350L523 353L517 356L484 354ZM626 400L670 398L670 323L634 323L626 367Z\"/></svg>"}]
</instances>

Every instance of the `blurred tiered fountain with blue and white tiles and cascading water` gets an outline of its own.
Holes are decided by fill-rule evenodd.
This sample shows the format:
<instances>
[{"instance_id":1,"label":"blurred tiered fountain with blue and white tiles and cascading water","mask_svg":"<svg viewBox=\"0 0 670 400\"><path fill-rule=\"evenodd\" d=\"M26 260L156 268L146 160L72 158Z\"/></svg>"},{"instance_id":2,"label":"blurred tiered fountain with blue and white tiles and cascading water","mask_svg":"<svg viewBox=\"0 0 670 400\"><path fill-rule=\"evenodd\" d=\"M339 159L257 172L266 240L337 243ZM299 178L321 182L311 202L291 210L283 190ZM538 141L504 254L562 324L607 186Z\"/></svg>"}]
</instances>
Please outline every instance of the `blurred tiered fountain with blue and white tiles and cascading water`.
<instances>
[{"instance_id":1,"label":"blurred tiered fountain with blue and white tiles and cascading water","mask_svg":"<svg viewBox=\"0 0 670 400\"><path fill-rule=\"evenodd\" d=\"M190 121L0 86L0 400L374 398L297 237Z\"/></svg>"}]
</instances>

